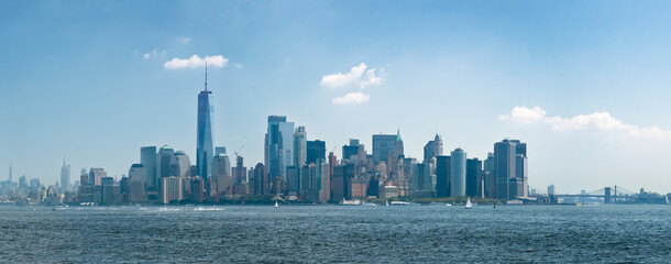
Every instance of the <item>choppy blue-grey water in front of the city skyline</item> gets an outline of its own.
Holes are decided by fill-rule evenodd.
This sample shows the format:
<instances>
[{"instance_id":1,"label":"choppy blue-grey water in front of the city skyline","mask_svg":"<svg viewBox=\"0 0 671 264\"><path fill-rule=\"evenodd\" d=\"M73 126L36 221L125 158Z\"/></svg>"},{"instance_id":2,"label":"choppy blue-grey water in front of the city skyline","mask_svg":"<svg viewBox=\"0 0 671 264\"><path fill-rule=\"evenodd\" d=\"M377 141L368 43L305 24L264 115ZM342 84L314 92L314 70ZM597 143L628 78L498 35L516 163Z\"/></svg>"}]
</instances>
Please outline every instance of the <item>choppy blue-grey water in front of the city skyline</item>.
<instances>
[{"instance_id":1,"label":"choppy blue-grey water in front of the city skyline","mask_svg":"<svg viewBox=\"0 0 671 264\"><path fill-rule=\"evenodd\" d=\"M199 261L669 263L671 206L0 208L0 262Z\"/></svg>"}]
</instances>

